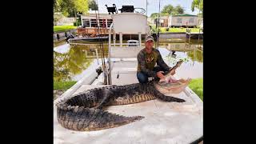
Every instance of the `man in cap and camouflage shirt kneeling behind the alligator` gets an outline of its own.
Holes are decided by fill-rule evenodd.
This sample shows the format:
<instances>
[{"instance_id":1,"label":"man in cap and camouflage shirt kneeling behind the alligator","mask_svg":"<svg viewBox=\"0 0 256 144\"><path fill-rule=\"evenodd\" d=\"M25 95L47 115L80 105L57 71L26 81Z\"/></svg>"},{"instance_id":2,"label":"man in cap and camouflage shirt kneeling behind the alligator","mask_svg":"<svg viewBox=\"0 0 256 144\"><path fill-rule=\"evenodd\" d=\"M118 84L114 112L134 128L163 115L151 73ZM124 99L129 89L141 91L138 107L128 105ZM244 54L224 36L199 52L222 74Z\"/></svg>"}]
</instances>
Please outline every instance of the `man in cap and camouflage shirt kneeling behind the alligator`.
<instances>
[{"instance_id":1,"label":"man in cap and camouflage shirt kneeling behind the alligator","mask_svg":"<svg viewBox=\"0 0 256 144\"><path fill-rule=\"evenodd\" d=\"M138 82L146 83L149 77L165 78L163 73L170 71L171 67L166 65L163 61L159 50L153 48L154 38L152 36L146 36L145 48L138 53ZM157 66L155 66L157 64ZM172 75L175 71L172 71Z\"/></svg>"}]
</instances>

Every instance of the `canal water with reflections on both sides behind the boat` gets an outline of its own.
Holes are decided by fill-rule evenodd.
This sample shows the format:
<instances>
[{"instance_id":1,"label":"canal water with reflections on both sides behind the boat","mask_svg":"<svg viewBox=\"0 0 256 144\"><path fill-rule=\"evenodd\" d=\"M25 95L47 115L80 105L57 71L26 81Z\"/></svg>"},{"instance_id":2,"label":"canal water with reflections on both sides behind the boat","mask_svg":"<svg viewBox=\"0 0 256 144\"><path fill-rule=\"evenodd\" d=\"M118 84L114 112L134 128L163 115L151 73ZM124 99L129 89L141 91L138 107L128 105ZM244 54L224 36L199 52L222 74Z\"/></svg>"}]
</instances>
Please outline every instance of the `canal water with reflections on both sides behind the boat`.
<instances>
[{"instance_id":1,"label":"canal water with reflections on both sides behind the boat","mask_svg":"<svg viewBox=\"0 0 256 144\"><path fill-rule=\"evenodd\" d=\"M54 81L78 81L90 70L94 70L92 67L97 65L95 47L98 48L98 55L101 58L102 51L98 42L90 42L83 46L63 44L54 47ZM169 66L174 66L179 59L184 60L182 66L176 71L176 77L202 78L202 41L159 42L158 50ZM103 44L103 51L106 57L108 53L107 42Z\"/></svg>"}]
</instances>

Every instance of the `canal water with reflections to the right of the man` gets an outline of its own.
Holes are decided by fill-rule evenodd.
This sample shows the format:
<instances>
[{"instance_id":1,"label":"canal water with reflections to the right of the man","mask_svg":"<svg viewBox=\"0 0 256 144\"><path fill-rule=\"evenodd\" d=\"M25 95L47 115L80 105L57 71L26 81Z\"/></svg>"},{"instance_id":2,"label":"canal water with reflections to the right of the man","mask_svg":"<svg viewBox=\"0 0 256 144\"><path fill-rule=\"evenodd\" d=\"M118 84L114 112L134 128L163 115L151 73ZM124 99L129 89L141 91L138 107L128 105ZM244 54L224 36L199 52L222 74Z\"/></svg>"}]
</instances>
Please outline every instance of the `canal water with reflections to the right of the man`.
<instances>
[{"instance_id":1,"label":"canal water with reflections to the right of the man","mask_svg":"<svg viewBox=\"0 0 256 144\"><path fill-rule=\"evenodd\" d=\"M174 66L180 59L184 61L176 70L177 78L202 78L202 42L162 42L159 46L167 65Z\"/></svg>"}]
</instances>

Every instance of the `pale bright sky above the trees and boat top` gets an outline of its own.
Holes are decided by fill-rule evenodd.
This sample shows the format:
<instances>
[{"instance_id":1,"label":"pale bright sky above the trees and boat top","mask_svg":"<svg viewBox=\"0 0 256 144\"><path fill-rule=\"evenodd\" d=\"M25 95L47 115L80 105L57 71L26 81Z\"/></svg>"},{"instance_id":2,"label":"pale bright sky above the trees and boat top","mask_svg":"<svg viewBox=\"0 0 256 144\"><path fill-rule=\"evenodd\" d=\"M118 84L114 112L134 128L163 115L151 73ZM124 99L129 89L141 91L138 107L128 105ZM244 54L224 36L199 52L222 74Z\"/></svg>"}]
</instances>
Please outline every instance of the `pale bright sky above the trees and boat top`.
<instances>
[{"instance_id":1,"label":"pale bright sky above the trees and boat top","mask_svg":"<svg viewBox=\"0 0 256 144\"><path fill-rule=\"evenodd\" d=\"M114 3L118 9L121 9L124 5L132 5L135 7L141 7L146 10L146 0L95 0L98 2L99 13L107 13L106 6L113 6ZM160 11L163 6L171 4L172 6L182 6L185 10L185 14L198 14L198 10L191 11L191 3L193 0L160 0ZM147 16L152 13L158 13L159 10L159 0L147 0ZM139 11L139 10L138 10ZM118 13L120 11L118 10ZM145 12L146 14L146 12Z\"/></svg>"}]
</instances>

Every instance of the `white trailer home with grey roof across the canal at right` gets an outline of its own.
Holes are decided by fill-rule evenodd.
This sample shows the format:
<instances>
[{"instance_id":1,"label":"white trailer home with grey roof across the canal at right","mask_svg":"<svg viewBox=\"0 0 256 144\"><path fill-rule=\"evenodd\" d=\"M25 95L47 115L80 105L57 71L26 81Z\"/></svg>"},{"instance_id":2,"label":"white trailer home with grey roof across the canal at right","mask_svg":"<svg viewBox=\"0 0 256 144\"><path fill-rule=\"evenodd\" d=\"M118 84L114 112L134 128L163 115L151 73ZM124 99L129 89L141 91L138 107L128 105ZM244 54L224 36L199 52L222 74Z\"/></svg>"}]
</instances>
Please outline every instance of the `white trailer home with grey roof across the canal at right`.
<instances>
[{"instance_id":1,"label":"white trailer home with grey roof across the canal at right","mask_svg":"<svg viewBox=\"0 0 256 144\"><path fill-rule=\"evenodd\" d=\"M171 15L168 19L168 27L194 27L198 26L198 16L191 14Z\"/></svg>"}]
</instances>

